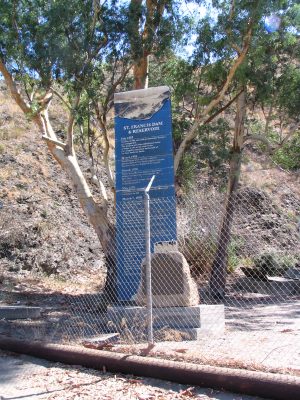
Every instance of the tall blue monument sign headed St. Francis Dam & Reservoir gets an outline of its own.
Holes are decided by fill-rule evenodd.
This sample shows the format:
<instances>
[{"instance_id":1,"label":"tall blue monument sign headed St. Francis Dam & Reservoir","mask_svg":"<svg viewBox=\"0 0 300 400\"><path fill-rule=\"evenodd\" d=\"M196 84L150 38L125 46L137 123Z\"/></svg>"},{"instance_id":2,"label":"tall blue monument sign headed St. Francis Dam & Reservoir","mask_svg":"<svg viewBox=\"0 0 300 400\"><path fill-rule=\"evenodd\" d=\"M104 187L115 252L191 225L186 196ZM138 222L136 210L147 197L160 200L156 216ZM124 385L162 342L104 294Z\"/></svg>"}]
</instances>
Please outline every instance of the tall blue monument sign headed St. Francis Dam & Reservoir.
<instances>
[{"instance_id":1,"label":"tall blue monument sign headed St. Francis Dam & Reservoir","mask_svg":"<svg viewBox=\"0 0 300 400\"><path fill-rule=\"evenodd\" d=\"M115 94L117 294L137 292L145 257L144 189L150 190L151 248L176 240L170 90Z\"/></svg>"}]
</instances>

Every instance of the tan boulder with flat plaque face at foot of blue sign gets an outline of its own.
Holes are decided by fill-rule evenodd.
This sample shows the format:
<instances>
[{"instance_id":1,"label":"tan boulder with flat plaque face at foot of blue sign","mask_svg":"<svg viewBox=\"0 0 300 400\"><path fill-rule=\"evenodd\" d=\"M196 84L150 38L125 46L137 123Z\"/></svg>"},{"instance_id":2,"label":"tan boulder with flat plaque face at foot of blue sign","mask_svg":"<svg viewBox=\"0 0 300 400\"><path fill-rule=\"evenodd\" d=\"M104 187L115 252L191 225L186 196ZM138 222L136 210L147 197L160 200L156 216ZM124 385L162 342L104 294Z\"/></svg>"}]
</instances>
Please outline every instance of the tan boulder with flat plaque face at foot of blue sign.
<instances>
[{"instance_id":1,"label":"tan boulder with flat plaque face at foot of blue sign","mask_svg":"<svg viewBox=\"0 0 300 400\"><path fill-rule=\"evenodd\" d=\"M154 307L189 307L199 304L197 285L190 267L179 251L152 254L152 300ZM142 263L142 279L134 300L146 304L146 263Z\"/></svg>"}]
</instances>

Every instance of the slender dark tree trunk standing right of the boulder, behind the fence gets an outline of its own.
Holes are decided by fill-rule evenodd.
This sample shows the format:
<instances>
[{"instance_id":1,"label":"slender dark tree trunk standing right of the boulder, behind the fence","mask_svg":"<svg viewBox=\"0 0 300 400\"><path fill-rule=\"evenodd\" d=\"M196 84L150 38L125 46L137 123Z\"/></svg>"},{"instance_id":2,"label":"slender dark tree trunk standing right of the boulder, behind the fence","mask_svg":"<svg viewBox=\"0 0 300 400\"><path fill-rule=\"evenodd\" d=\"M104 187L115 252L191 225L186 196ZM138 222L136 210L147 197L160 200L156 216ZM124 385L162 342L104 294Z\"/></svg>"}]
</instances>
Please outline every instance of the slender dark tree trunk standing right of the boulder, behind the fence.
<instances>
[{"instance_id":1,"label":"slender dark tree trunk standing right of the boulder, behind the fence","mask_svg":"<svg viewBox=\"0 0 300 400\"><path fill-rule=\"evenodd\" d=\"M217 250L212 264L212 273L210 277L211 294L213 297L218 299L223 299L225 296L228 246L231 240L231 227L235 208L235 193L238 188L241 171L245 115L246 93L244 90L237 99L237 112L235 118L234 140L230 158L225 214L219 232Z\"/></svg>"}]
</instances>

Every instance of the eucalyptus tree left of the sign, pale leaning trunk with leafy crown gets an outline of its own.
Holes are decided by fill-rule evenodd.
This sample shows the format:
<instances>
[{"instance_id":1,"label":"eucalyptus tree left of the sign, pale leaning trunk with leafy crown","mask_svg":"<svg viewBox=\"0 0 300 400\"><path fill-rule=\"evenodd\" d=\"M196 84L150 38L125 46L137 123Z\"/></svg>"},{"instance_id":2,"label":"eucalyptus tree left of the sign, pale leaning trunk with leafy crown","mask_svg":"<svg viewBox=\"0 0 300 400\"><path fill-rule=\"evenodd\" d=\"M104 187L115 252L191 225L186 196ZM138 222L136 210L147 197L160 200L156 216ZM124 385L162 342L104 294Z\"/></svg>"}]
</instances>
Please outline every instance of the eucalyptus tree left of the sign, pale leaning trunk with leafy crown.
<instances>
[{"instance_id":1,"label":"eucalyptus tree left of the sign, pale leaning trunk with leafy crown","mask_svg":"<svg viewBox=\"0 0 300 400\"><path fill-rule=\"evenodd\" d=\"M95 87L103 89L106 104L124 80L128 72L125 23L122 6L115 1L0 1L0 72L13 99L69 176L108 265L114 260L108 198L103 184L100 204L92 195L77 161L74 125L86 96L95 101ZM57 137L49 117L55 95L68 110L65 141Z\"/></svg>"}]
</instances>

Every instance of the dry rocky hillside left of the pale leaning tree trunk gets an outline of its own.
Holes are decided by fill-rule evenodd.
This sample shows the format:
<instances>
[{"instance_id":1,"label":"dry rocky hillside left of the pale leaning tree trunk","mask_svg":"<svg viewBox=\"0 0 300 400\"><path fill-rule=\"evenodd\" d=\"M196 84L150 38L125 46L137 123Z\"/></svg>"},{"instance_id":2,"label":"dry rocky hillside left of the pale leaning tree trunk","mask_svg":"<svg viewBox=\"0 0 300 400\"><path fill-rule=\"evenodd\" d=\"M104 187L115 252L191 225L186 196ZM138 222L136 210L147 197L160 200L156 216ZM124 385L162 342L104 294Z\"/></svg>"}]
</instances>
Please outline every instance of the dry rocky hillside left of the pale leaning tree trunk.
<instances>
[{"instance_id":1,"label":"dry rocky hillside left of the pale leaning tree trunk","mask_svg":"<svg viewBox=\"0 0 300 400\"><path fill-rule=\"evenodd\" d=\"M40 278L59 276L63 286L76 282L77 288L91 290L92 273L96 289L103 285L101 257L98 239L68 178L2 84L0 281L1 276L22 281L34 272Z\"/></svg>"}]
</instances>

